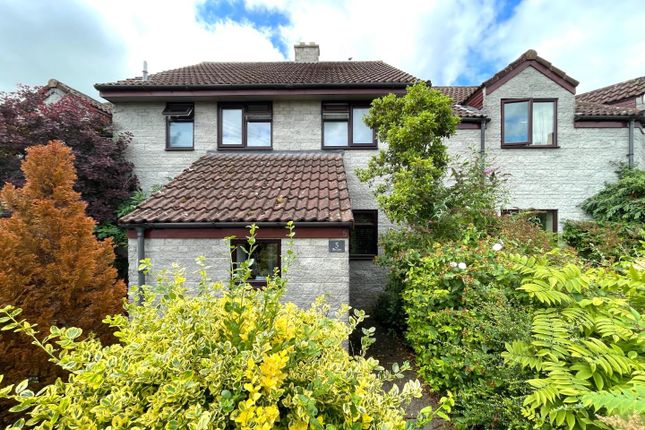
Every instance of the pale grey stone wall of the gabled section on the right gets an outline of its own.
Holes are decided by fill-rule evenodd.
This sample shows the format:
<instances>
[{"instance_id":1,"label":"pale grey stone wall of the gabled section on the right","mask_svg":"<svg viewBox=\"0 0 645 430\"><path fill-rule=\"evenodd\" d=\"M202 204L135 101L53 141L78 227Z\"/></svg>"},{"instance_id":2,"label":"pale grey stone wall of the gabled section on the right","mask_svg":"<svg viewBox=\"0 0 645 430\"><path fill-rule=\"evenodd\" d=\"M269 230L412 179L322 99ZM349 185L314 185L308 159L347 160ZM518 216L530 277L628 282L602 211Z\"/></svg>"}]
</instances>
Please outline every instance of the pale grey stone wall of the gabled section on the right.
<instances>
[{"instance_id":1,"label":"pale grey stone wall of the gabled section on the right","mask_svg":"<svg viewBox=\"0 0 645 430\"><path fill-rule=\"evenodd\" d=\"M501 99L557 98L557 141L560 148L502 149ZM491 118L486 129L486 153L509 175L509 201L521 209L557 209L559 230L567 219L584 219L578 207L616 180L615 164L627 161L626 128L575 128L574 95L528 67L484 100ZM479 146L479 130L460 130L449 141L452 153L465 153L468 144Z\"/></svg>"}]
</instances>

